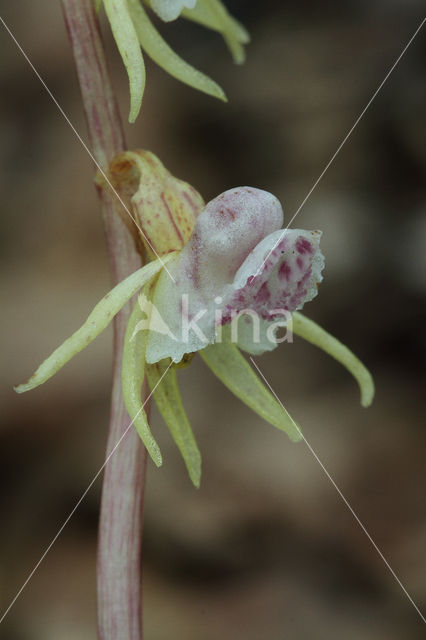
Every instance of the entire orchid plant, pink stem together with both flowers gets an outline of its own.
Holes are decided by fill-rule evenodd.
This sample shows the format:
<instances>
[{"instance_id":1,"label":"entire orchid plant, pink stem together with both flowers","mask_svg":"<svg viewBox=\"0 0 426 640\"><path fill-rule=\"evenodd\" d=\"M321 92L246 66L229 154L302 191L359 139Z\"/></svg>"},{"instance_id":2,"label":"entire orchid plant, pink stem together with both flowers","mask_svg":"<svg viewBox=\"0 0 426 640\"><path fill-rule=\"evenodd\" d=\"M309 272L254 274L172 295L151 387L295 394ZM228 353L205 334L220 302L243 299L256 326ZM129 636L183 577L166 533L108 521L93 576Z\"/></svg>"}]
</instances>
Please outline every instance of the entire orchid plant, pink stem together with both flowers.
<instances>
[{"instance_id":1,"label":"entire orchid plant, pink stem together with both flowers","mask_svg":"<svg viewBox=\"0 0 426 640\"><path fill-rule=\"evenodd\" d=\"M193 0L152 0L150 6L154 11L164 9L165 18L171 20L176 11L170 14L170 6L178 15L185 5L185 17L222 32L234 60L241 62L247 34L220 0L193 4ZM323 279L321 232L283 228L278 199L254 187L228 189L204 204L201 195L175 178L154 154L125 151L94 1L62 0L62 5L99 170L96 184L115 286L80 329L15 389L22 393L43 384L114 318L111 422L98 547L99 639L141 640L147 451L157 466L162 464L144 402L148 386L191 481L199 487L201 454L176 373L197 352L235 396L293 441L303 438L299 426L240 350L252 355L271 351L287 339L278 338L278 329L286 327L291 333L294 328L352 373L363 406L371 404L374 384L347 347L299 313L316 297ZM143 63L139 45L154 60L168 49L145 21L140 0L103 0L103 5L128 70L133 120L144 86L142 67L135 66L137 60ZM185 74L179 76L182 66L175 54L167 53L157 62L191 84ZM198 81L191 86L205 90ZM143 267L139 251L149 260Z\"/></svg>"}]
</instances>

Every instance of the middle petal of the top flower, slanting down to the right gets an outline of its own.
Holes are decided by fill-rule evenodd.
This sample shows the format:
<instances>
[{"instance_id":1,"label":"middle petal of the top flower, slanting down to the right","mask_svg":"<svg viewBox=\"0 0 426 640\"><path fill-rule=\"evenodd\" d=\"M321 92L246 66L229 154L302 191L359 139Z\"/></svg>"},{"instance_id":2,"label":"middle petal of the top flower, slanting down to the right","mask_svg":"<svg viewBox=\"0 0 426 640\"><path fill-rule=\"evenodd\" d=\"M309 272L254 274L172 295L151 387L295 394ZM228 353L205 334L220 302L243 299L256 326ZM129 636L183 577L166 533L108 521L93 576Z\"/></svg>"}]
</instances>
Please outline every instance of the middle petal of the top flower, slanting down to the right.
<instances>
[{"instance_id":1,"label":"middle petal of the top flower, slanting down to the right","mask_svg":"<svg viewBox=\"0 0 426 640\"><path fill-rule=\"evenodd\" d=\"M140 0L128 0L128 7L139 42L143 50L154 62L177 80L194 89L226 101L223 90L216 82L182 60L163 40L148 18L146 11L140 4Z\"/></svg>"}]
</instances>

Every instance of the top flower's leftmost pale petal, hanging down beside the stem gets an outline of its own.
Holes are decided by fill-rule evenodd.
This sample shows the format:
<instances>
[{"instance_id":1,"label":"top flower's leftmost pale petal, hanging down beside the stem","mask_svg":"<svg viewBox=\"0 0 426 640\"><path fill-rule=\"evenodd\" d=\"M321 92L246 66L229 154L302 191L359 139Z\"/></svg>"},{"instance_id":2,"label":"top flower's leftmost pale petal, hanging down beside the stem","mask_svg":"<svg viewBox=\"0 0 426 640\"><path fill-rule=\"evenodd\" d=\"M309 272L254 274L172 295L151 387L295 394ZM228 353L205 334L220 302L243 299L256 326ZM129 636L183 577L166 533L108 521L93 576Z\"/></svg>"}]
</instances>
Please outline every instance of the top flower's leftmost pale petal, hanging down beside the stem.
<instances>
[{"instance_id":1,"label":"top flower's leftmost pale petal, hanging down beside the stem","mask_svg":"<svg viewBox=\"0 0 426 640\"><path fill-rule=\"evenodd\" d=\"M145 89L145 64L139 39L129 13L127 0L103 0L118 50L126 67L130 85L129 122L134 122Z\"/></svg>"}]
</instances>

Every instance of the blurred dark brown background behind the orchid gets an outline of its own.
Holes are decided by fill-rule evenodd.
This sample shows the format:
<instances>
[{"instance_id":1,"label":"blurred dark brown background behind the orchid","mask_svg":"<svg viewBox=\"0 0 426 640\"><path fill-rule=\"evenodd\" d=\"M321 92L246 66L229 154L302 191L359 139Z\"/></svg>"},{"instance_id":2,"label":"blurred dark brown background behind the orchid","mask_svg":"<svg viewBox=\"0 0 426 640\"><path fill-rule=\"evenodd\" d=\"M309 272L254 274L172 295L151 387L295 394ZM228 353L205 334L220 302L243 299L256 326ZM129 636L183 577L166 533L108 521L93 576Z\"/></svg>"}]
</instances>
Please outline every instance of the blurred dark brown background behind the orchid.
<instances>
[{"instance_id":1,"label":"blurred dark brown background behind the orchid","mask_svg":"<svg viewBox=\"0 0 426 640\"><path fill-rule=\"evenodd\" d=\"M59 2L1 15L86 136ZM219 36L162 29L229 104L148 64L128 143L154 151L210 199L243 184L287 220L424 15L422 0L238 2L253 42L234 67ZM106 30L107 31L107 30ZM111 333L42 388L12 385L85 319L109 286L92 166L0 30L2 312L1 609L9 605L104 457ZM122 113L125 72L108 36ZM425 33L420 33L293 226L324 232L325 280L306 313L349 345L377 385L295 341L259 365L420 607L426 599L424 398ZM195 358L182 392L203 453L190 485L165 427L149 467L147 640L424 637L416 611L302 443L262 423ZM7 640L95 637L100 480L0 626Z\"/></svg>"}]
</instances>

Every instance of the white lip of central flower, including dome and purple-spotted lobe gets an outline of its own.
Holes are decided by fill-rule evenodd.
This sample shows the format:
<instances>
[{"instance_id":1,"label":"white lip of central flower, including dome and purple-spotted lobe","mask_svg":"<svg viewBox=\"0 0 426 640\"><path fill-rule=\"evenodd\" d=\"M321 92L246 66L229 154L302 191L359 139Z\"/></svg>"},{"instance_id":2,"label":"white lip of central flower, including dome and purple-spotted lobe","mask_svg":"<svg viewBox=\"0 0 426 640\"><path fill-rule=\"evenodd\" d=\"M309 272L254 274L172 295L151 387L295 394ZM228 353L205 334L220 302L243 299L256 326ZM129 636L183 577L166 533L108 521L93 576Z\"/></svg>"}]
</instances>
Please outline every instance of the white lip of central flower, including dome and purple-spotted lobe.
<instances>
[{"instance_id":1,"label":"white lip of central flower, including dome and purple-spotted lobe","mask_svg":"<svg viewBox=\"0 0 426 640\"><path fill-rule=\"evenodd\" d=\"M219 341L221 326L243 310L258 317L261 335L245 317L234 341L255 354L276 347L277 321L316 296L324 267L321 233L282 230L282 222L278 200L259 189L230 189L207 204L169 264L175 282L166 273L158 278L152 303L171 335L150 332L147 362L180 362Z\"/></svg>"}]
</instances>

